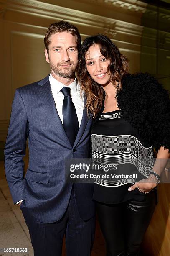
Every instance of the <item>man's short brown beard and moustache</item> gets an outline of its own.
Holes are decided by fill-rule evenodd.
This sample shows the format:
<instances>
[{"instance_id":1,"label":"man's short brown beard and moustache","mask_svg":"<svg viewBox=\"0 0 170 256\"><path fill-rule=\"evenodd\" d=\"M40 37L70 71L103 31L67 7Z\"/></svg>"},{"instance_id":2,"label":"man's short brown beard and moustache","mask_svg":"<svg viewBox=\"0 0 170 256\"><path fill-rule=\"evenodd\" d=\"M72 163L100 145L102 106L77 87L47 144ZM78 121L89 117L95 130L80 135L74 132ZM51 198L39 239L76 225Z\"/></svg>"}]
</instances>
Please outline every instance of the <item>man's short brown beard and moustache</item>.
<instances>
[{"instance_id":1,"label":"man's short brown beard and moustache","mask_svg":"<svg viewBox=\"0 0 170 256\"><path fill-rule=\"evenodd\" d=\"M61 65L69 65L69 64L71 64L71 66L69 66L68 68L59 69ZM78 61L76 64L72 61L68 61L68 62L66 61L66 62L59 62L56 66L53 64L53 62L50 62L50 67L51 67L51 70L59 77L74 78L77 64L78 64Z\"/></svg>"}]
</instances>

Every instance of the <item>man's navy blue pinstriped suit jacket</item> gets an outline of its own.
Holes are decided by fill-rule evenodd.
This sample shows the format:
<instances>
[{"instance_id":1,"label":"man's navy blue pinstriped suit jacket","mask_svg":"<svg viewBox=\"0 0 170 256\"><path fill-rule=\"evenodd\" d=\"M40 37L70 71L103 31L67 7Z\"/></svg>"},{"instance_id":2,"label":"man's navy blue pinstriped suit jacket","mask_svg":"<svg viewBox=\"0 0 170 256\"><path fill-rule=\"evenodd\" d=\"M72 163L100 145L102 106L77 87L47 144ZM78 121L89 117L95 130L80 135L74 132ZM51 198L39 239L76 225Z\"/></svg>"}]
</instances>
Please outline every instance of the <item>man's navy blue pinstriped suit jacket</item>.
<instances>
[{"instance_id":1,"label":"man's navy blue pinstriped suit jacket","mask_svg":"<svg viewBox=\"0 0 170 256\"><path fill-rule=\"evenodd\" d=\"M84 109L74 146L71 146L51 93L49 76L15 92L5 145L5 172L13 202L40 222L62 218L72 184L65 183L65 161L88 158L91 120ZM29 166L24 178L26 140ZM93 184L74 184L83 220L94 216Z\"/></svg>"}]
</instances>

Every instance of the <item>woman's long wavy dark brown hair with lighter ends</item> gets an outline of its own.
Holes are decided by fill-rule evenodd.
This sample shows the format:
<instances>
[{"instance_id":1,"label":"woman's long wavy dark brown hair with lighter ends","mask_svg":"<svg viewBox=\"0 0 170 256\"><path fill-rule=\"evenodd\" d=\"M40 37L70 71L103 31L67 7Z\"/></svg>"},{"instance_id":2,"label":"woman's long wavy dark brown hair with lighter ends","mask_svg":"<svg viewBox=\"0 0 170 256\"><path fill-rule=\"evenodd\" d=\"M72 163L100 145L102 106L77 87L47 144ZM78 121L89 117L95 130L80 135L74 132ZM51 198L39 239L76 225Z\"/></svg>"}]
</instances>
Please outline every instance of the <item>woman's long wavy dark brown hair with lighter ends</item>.
<instances>
[{"instance_id":1,"label":"woman's long wavy dark brown hair with lighter ends","mask_svg":"<svg viewBox=\"0 0 170 256\"><path fill-rule=\"evenodd\" d=\"M86 96L88 116L91 113L93 118L101 110L104 98L103 88L91 78L86 68L85 55L94 44L100 46L101 54L109 60L109 66L107 67L109 79L112 84L115 81L119 82L118 90L122 88L122 78L129 73L129 61L127 57L120 53L117 46L107 36L98 34L96 36L89 36L84 40L81 45L80 60L76 72L79 84L81 85L81 94L84 91Z\"/></svg>"}]
</instances>

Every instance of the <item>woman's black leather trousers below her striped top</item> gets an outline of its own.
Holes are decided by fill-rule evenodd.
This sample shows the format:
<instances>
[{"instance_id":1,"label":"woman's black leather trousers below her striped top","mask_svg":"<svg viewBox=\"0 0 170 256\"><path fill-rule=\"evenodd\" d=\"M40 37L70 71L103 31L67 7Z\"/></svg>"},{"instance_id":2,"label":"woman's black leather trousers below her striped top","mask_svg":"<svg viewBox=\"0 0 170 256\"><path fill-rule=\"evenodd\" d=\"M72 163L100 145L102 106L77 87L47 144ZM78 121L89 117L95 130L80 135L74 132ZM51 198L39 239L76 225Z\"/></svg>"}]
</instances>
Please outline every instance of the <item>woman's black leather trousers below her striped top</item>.
<instances>
[{"instance_id":1,"label":"woman's black leather trousers below her striped top","mask_svg":"<svg viewBox=\"0 0 170 256\"><path fill-rule=\"evenodd\" d=\"M107 256L138 256L142 238L150 223L157 203L157 192L145 194L143 201L119 204L96 202ZM145 254L147 255L147 254Z\"/></svg>"}]
</instances>

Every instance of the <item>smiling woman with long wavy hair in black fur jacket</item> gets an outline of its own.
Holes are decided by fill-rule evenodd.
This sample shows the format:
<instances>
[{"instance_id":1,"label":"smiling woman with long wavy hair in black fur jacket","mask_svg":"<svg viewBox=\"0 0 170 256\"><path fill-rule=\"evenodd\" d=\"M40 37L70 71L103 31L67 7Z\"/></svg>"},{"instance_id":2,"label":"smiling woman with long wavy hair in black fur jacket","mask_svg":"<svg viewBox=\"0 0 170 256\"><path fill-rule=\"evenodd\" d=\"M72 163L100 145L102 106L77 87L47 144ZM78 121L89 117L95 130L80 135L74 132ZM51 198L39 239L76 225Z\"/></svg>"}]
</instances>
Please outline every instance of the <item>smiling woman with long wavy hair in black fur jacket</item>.
<instances>
[{"instance_id":1,"label":"smiling woman with long wavy hair in black fur jacket","mask_svg":"<svg viewBox=\"0 0 170 256\"><path fill-rule=\"evenodd\" d=\"M170 156L168 93L150 74L129 74L127 58L101 34L84 40L77 77L93 118L93 159L117 163L116 173L123 174L94 179L93 199L107 256L140 255L160 174Z\"/></svg>"}]
</instances>

